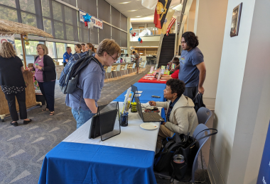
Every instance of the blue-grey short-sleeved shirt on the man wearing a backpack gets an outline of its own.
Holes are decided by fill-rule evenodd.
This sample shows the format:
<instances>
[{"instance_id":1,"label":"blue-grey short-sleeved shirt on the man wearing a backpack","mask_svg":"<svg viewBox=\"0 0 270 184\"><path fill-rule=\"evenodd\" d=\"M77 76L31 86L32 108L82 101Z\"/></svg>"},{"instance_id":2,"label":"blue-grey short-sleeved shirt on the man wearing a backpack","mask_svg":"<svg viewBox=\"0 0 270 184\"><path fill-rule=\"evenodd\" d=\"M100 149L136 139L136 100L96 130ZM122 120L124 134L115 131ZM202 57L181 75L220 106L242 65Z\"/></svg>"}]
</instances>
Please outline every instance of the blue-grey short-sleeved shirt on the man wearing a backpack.
<instances>
[{"instance_id":1,"label":"blue-grey short-sleeved shirt on the man wearing a backpack","mask_svg":"<svg viewBox=\"0 0 270 184\"><path fill-rule=\"evenodd\" d=\"M94 60L90 62L82 71L80 71L77 87L82 90L77 90L72 94L67 94L65 103L70 108L79 110L90 110L84 98L94 99L97 107L102 88L104 86L105 71L102 64L97 64ZM82 97L82 100L80 98Z\"/></svg>"}]
</instances>

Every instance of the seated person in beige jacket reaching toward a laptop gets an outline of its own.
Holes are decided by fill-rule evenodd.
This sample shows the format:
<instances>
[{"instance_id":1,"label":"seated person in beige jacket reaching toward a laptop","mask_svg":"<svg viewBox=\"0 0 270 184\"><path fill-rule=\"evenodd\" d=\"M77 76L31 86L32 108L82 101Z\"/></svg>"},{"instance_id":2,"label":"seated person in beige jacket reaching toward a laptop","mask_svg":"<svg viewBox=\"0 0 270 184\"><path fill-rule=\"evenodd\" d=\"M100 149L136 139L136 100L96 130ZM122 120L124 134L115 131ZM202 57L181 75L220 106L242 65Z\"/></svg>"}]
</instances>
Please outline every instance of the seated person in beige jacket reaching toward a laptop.
<instances>
[{"instance_id":1,"label":"seated person in beige jacket reaching toward a laptop","mask_svg":"<svg viewBox=\"0 0 270 184\"><path fill-rule=\"evenodd\" d=\"M193 100L183 96L185 83L179 79L170 79L164 89L164 98L167 102L149 101L151 106L167 108L166 120L158 131L156 148L161 149L161 140L172 137L174 133L193 135L198 125L198 117L194 109Z\"/></svg>"}]
</instances>

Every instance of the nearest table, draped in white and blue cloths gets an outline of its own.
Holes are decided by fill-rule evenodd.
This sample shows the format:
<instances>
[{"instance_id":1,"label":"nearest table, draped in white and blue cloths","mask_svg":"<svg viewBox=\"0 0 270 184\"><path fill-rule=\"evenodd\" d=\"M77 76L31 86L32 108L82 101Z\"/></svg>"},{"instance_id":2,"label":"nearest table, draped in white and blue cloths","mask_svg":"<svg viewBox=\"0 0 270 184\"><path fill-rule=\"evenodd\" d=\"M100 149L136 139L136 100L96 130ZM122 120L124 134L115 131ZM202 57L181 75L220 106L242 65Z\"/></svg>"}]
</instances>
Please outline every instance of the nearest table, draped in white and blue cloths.
<instances>
[{"instance_id":1,"label":"nearest table, draped in white and blue cloths","mask_svg":"<svg viewBox=\"0 0 270 184\"><path fill-rule=\"evenodd\" d=\"M144 130L141 123L138 113L129 113L129 126L102 142L100 137L88 139L88 120L46 154L38 183L156 183L158 128ZM160 122L154 123L159 127Z\"/></svg>"}]
</instances>

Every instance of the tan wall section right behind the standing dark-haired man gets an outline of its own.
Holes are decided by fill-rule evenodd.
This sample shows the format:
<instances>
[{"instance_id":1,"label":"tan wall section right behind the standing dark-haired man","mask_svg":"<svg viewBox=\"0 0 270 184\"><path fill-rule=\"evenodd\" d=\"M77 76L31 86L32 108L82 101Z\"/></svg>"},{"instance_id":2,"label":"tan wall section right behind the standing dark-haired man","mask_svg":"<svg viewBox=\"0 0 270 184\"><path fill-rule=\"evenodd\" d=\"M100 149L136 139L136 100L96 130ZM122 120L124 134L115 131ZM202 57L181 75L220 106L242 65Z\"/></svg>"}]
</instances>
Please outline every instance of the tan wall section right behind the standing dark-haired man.
<instances>
[{"instance_id":1,"label":"tan wall section right behind the standing dark-haired man","mask_svg":"<svg viewBox=\"0 0 270 184\"><path fill-rule=\"evenodd\" d=\"M227 4L228 0L197 0L195 4L197 6L196 15L194 15L196 20L193 23L196 25L193 27L195 34L199 38L198 47L202 51L206 66L203 99L207 108L212 109L215 108ZM193 12L190 15L193 15ZM192 21L192 18L188 18L188 20ZM190 23L188 23L188 27L190 27Z\"/></svg>"}]
</instances>

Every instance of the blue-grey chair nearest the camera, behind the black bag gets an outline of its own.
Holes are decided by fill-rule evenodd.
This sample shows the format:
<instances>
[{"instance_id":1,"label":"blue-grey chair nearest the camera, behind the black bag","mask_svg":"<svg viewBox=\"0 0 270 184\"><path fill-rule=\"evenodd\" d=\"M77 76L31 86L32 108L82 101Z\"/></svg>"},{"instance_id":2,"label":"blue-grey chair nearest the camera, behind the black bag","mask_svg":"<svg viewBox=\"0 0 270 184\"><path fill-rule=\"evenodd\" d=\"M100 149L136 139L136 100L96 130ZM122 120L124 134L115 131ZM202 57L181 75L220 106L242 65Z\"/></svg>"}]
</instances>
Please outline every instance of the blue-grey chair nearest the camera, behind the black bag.
<instances>
[{"instance_id":1,"label":"blue-grey chair nearest the camera, behind the black bag","mask_svg":"<svg viewBox=\"0 0 270 184\"><path fill-rule=\"evenodd\" d=\"M196 135L197 135L196 139L198 140L201 137L204 137L206 134L210 134L210 130L206 130L206 131L201 132L202 130L205 130L205 129L208 129L208 127L206 125L199 124L195 128L195 130L193 132L193 137L195 138ZM206 134L205 134L205 132L206 132ZM207 142L208 139L209 139L209 137L205 137L203 139L200 139L198 141L198 144L195 144L195 146L198 146L198 151L197 151L197 154L196 154L195 159L194 159L194 162L193 162L192 178L191 178L190 182L194 182L194 180L195 180L195 171L198 168L198 155L199 155L200 149L202 149L202 146L205 144L205 142Z\"/></svg>"}]
</instances>

